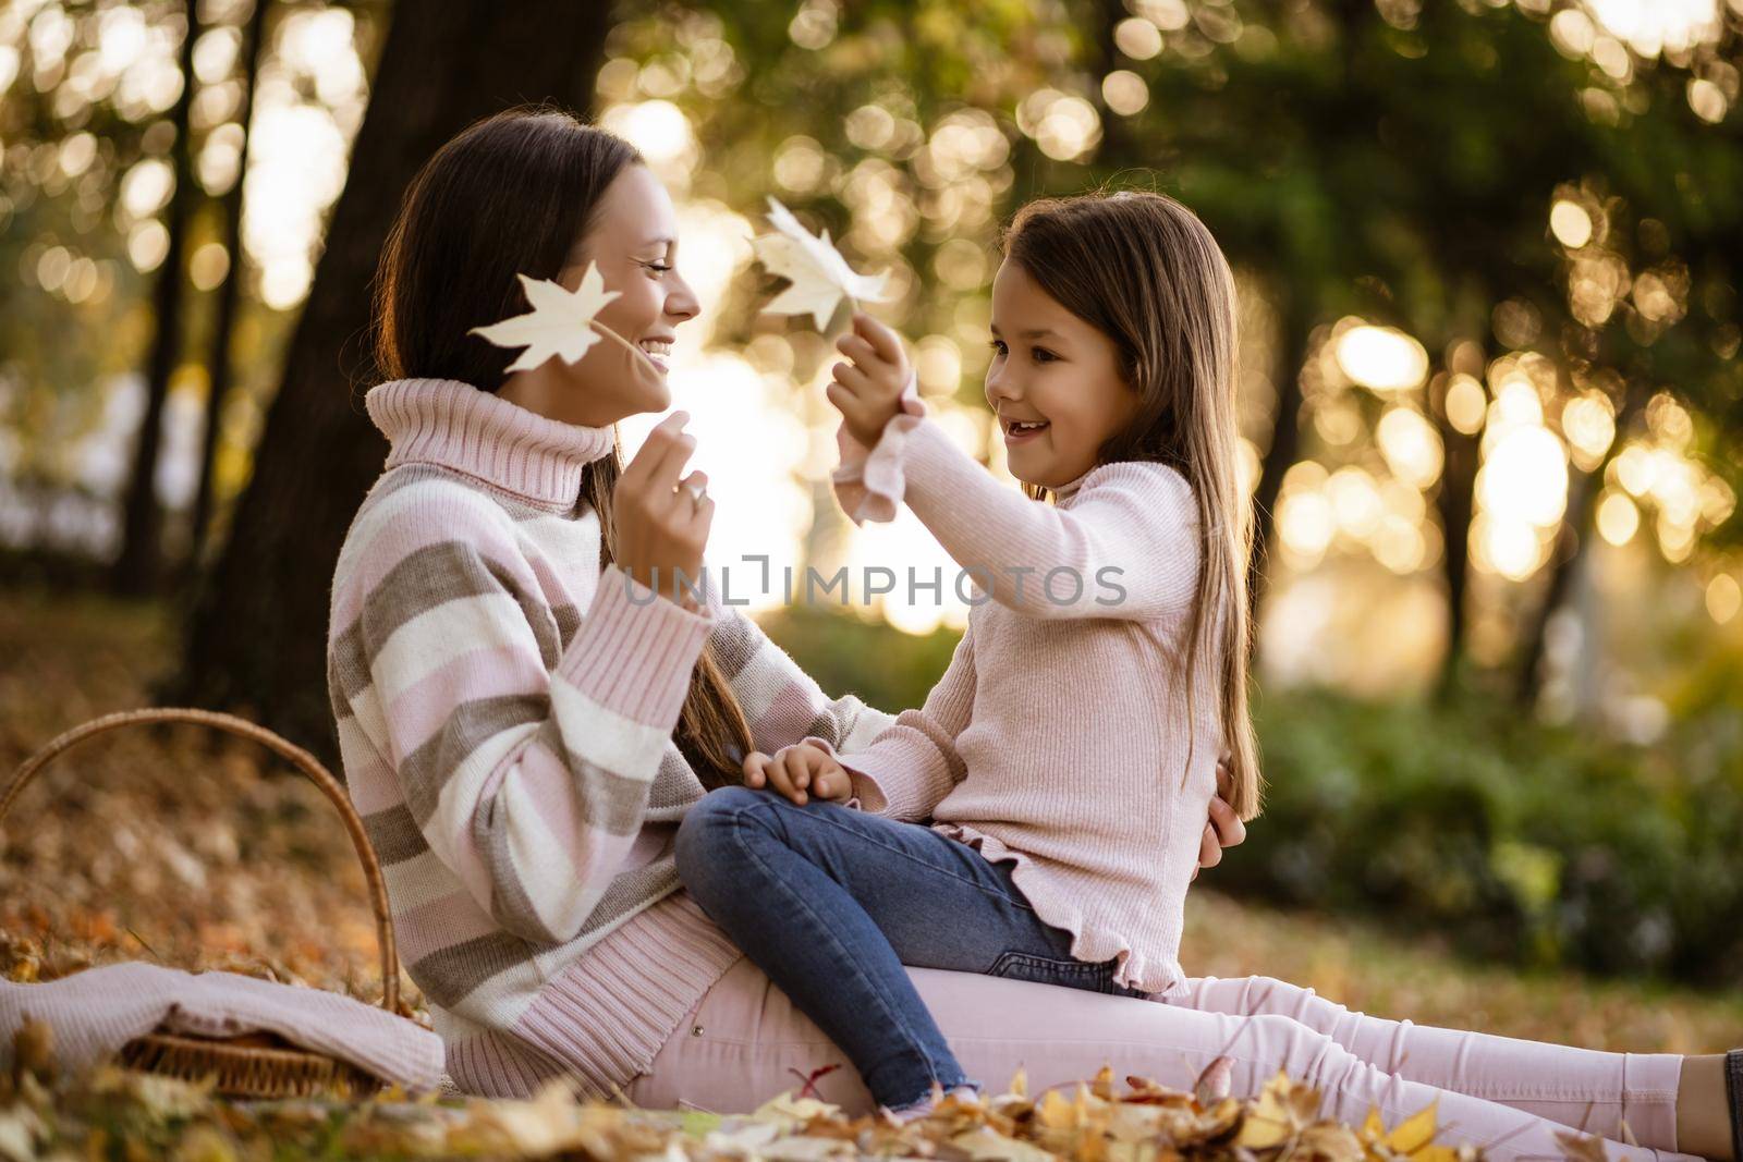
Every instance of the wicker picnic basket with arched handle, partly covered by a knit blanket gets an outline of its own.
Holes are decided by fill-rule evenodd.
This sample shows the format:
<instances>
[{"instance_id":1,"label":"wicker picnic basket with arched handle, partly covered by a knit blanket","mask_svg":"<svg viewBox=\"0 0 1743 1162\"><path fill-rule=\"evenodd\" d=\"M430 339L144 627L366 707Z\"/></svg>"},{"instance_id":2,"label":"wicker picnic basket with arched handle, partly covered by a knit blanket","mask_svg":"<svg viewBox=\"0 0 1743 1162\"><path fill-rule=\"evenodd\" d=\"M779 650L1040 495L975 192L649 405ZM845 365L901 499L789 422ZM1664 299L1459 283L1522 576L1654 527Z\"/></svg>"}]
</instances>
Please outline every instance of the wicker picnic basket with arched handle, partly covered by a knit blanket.
<instances>
[{"instance_id":1,"label":"wicker picnic basket with arched handle, partly covered by a knit blanket","mask_svg":"<svg viewBox=\"0 0 1743 1162\"><path fill-rule=\"evenodd\" d=\"M382 1009L399 1012L399 955L394 948L394 925L387 909L387 885L382 864L370 847L363 821L338 780L314 754L284 737L234 714L216 711L162 707L120 711L94 718L58 735L40 751L24 760L0 794L0 819L5 819L12 800L51 760L94 735L143 723L197 723L244 739L253 739L289 760L310 782L321 787L350 833L363 862L363 876L370 885L370 904L375 909L375 941L382 955ZM127 1042L119 1063L146 1073L166 1073L185 1080L214 1078L214 1089L230 1098L305 1098L315 1092L375 1092L383 1082L349 1061L321 1052L310 1052L275 1035L244 1035L232 1038L206 1038L166 1033L162 1030Z\"/></svg>"}]
</instances>

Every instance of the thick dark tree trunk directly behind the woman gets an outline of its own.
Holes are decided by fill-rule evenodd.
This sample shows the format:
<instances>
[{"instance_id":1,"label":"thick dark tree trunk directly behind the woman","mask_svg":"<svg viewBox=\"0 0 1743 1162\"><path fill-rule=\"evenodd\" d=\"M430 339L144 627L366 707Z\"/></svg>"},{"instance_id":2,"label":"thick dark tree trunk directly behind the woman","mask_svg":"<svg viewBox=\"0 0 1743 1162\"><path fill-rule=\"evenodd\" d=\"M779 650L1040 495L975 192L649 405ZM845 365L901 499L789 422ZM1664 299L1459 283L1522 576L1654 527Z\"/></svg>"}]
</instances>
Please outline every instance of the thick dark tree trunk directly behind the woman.
<instances>
[{"instance_id":1,"label":"thick dark tree trunk directly behind the woman","mask_svg":"<svg viewBox=\"0 0 1743 1162\"><path fill-rule=\"evenodd\" d=\"M397 12L253 479L195 599L181 671L160 690L237 709L326 756L333 566L387 451L359 404L382 242L418 167L465 125L526 101L586 108L610 30L608 5L573 0Z\"/></svg>"}]
</instances>

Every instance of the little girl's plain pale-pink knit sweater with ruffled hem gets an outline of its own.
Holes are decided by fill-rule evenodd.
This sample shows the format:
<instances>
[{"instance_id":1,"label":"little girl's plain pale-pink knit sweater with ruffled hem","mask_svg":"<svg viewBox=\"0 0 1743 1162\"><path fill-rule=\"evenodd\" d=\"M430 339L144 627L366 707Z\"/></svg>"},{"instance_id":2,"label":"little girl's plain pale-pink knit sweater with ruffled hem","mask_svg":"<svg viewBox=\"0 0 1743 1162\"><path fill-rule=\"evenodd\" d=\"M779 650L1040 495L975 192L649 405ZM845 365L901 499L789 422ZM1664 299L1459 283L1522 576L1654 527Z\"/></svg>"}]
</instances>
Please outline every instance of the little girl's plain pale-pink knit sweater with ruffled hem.
<instances>
[{"instance_id":1,"label":"little girl's plain pale-pink knit sweater with ruffled hem","mask_svg":"<svg viewBox=\"0 0 1743 1162\"><path fill-rule=\"evenodd\" d=\"M837 756L861 808L931 815L1011 861L1035 913L1075 936L1074 956L1182 993L1182 911L1222 751L1217 667L1201 657L1189 678L1180 657L1199 561L1185 479L1107 463L1055 505L1034 502L960 451L912 388L870 453L845 432L840 444L849 516L887 521L906 500L981 601L926 706Z\"/></svg>"}]
</instances>

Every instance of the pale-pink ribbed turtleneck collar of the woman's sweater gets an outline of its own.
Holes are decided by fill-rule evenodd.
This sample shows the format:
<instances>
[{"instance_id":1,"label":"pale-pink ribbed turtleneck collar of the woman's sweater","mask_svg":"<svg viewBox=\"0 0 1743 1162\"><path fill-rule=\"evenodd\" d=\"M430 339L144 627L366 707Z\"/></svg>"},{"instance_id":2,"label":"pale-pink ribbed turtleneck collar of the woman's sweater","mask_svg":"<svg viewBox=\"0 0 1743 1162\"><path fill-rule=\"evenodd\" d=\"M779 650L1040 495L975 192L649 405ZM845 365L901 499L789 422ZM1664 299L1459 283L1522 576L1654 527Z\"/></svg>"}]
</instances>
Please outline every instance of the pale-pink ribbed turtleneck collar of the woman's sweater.
<instances>
[{"instance_id":1,"label":"pale-pink ribbed turtleneck collar of the woman's sweater","mask_svg":"<svg viewBox=\"0 0 1743 1162\"><path fill-rule=\"evenodd\" d=\"M565 509L582 469L617 446L612 427L549 420L458 380L389 380L363 404L392 444L389 469L436 463Z\"/></svg>"}]
</instances>

